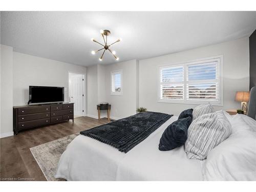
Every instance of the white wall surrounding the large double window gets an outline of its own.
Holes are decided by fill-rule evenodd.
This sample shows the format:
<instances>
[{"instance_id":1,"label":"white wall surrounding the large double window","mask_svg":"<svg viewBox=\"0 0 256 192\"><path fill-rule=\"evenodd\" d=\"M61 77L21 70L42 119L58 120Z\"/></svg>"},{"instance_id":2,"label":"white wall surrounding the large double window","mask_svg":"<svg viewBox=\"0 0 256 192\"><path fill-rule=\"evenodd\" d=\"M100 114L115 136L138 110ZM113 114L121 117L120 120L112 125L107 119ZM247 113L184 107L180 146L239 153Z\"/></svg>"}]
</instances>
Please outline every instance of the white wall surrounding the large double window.
<instances>
[{"instance_id":1,"label":"white wall surrounding the large double window","mask_svg":"<svg viewBox=\"0 0 256 192\"><path fill-rule=\"evenodd\" d=\"M243 38L222 44L183 51L175 54L139 61L139 105L149 111L179 115L182 110L194 108L193 104L157 102L158 66L180 63L223 54L224 106L219 109L238 109L241 103L234 101L236 91L249 91L249 39Z\"/></svg>"}]
</instances>

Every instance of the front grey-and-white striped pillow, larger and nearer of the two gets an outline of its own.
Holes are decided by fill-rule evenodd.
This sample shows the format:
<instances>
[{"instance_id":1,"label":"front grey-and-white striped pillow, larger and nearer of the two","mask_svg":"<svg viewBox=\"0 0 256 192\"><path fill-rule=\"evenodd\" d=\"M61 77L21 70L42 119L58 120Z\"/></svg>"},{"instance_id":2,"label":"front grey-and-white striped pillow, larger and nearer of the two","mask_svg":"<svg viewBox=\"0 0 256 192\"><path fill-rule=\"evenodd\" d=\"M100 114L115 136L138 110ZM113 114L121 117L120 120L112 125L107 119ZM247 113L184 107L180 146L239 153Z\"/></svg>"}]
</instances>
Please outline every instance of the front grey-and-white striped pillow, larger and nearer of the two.
<instances>
[{"instance_id":1,"label":"front grey-and-white striped pillow, larger and nearer of the two","mask_svg":"<svg viewBox=\"0 0 256 192\"><path fill-rule=\"evenodd\" d=\"M231 134L231 124L223 111L205 114L188 127L185 152L189 159L206 159L208 153Z\"/></svg>"}]
</instances>

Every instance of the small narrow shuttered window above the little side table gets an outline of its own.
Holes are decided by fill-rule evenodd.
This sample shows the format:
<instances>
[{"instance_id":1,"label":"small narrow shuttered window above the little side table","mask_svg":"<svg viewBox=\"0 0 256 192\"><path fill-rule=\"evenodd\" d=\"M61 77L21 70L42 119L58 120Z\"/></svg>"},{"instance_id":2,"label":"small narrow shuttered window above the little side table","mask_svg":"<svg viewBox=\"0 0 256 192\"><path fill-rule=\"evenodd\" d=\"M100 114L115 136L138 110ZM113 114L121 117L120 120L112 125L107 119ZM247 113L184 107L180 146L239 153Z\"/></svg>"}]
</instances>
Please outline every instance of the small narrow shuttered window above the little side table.
<instances>
[{"instance_id":1,"label":"small narrow shuttered window above the little side table","mask_svg":"<svg viewBox=\"0 0 256 192\"><path fill-rule=\"evenodd\" d=\"M122 95L122 71L111 72L111 95Z\"/></svg>"}]
</instances>

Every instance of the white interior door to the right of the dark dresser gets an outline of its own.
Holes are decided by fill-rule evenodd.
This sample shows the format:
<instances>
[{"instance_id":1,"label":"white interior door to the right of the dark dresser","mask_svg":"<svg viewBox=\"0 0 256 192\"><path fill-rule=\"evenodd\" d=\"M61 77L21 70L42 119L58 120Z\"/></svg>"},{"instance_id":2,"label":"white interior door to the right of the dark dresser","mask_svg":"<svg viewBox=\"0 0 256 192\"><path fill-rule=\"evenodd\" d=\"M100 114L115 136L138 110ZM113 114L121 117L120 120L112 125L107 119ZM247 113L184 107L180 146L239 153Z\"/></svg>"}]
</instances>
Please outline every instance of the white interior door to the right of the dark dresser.
<instances>
[{"instance_id":1,"label":"white interior door to the right of the dark dresser","mask_svg":"<svg viewBox=\"0 0 256 192\"><path fill-rule=\"evenodd\" d=\"M83 75L69 74L69 98L74 103L74 116L83 116Z\"/></svg>"}]
</instances>

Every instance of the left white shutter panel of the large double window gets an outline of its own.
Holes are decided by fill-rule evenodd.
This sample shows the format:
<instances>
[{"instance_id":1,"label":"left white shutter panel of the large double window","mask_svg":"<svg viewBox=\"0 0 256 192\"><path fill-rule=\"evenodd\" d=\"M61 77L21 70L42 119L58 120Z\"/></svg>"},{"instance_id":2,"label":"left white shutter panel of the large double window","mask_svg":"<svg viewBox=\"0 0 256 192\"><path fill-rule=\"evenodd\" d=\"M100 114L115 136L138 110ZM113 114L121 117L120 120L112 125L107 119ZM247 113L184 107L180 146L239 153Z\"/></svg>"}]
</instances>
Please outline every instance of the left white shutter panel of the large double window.
<instances>
[{"instance_id":1,"label":"left white shutter panel of the large double window","mask_svg":"<svg viewBox=\"0 0 256 192\"><path fill-rule=\"evenodd\" d=\"M176 99L184 98L184 67L160 68L160 98Z\"/></svg>"}]
</instances>

